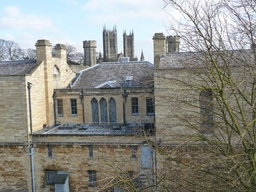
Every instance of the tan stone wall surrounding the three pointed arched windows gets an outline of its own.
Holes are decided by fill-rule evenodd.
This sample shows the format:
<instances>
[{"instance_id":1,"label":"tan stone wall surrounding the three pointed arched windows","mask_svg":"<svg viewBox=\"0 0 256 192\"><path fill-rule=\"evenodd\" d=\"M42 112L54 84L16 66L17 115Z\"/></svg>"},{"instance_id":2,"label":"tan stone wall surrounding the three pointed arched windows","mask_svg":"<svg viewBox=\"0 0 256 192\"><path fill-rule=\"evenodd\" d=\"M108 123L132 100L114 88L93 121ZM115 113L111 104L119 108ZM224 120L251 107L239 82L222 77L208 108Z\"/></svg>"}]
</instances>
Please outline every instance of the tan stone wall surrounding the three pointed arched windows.
<instances>
[{"instance_id":1,"label":"tan stone wall surrounding the three pointed arched windows","mask_svg":"<svg viewBox=\"0 0 256 192\"><path fill-rule=\"evenodd\" d=\"M100 99L104 98L109 108L110 98L114 98L116 101L116 115L117 122L123 123L123 102L122 89L56 89L57 99L62 99L63 102L63 116L57 116L57 124L65 122L82 123L82 104L79 98L79 94L83 91L84 102L84 117L85 123L92 123L92 106L91 101L93 98L97 99L99 107L100 117ZM138 92L132 92L127 90L128 96L125 102L125 123L154 123L154 115L147 115L146 113L146 98L152 97L152 94L147 93L145 90ZM139 114L132 114L131 98L138 97ZM77 99L77 116L71 116L70 99ZM109 110L108 110L109 113ZM109 117L108 117L109 118ZM109 121L108 121L109 122ZM99 123L101 123L99 118Z\"/></svg>"}]
</instances>

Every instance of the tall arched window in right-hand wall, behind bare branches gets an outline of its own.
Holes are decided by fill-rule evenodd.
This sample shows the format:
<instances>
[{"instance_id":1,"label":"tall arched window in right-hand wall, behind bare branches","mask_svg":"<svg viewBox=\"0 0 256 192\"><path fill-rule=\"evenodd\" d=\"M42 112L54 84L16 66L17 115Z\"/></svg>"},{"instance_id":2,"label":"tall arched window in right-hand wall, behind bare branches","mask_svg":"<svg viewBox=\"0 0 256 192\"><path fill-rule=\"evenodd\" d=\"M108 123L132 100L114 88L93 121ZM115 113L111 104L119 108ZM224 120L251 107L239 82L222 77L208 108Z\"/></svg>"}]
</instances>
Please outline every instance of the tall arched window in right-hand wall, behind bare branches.
<instances>
[{"instance_id":1,"label":"tall arched window in right-hand wall, behind bare branches","mask_svg":"<svg viewBox=\"0 0 256 192\"><path fill-rule=\"evenodd\" d=\"M212 127L212 92L211 90L203 90L200 93L200 113L202 128Z\"/></svg>"}]
</instances>

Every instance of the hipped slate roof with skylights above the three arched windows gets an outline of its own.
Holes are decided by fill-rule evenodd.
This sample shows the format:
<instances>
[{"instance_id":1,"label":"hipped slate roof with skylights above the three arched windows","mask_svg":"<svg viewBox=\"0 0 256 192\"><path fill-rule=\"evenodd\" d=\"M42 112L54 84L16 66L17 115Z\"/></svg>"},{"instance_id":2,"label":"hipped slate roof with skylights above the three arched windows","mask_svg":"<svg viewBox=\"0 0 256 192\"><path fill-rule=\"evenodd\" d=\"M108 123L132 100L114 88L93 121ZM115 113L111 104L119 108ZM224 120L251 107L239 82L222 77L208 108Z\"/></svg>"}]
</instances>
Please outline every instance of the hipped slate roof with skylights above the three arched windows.
<instances>
[{"instance_id":1,"label":"hipped slate roof with skylights above the three arched windows","mask_svg":"<svg viewBox=\"0 0 256 192\"><path fill-rule=\"evenodd\" d=\"M81 71L72 88L124 87L126 76L133 76L130 87L151 86L153 69L147 61L98 63Z\"/></svg>"}]
</instances>

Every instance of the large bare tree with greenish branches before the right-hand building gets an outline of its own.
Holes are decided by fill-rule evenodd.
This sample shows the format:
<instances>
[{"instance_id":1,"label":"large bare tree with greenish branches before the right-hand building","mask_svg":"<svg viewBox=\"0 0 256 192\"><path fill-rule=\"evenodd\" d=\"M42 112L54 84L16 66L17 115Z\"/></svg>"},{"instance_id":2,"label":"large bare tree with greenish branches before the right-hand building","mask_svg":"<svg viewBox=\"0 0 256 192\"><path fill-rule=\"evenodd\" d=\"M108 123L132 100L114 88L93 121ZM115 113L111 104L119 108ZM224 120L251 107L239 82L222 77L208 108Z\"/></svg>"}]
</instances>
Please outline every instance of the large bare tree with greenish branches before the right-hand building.
<instances>
[{"instance_id":1,"label":"large bare tree with greenish branches before the right-hand building","mask_svg":"<svg viewBox=\"0 0 256 192\"><path fill-rule=\"evenodd\" d=\"M255 191L256 2L164 2L187 53L155 73L159 189Z\"/></svg>"}]
</instances>

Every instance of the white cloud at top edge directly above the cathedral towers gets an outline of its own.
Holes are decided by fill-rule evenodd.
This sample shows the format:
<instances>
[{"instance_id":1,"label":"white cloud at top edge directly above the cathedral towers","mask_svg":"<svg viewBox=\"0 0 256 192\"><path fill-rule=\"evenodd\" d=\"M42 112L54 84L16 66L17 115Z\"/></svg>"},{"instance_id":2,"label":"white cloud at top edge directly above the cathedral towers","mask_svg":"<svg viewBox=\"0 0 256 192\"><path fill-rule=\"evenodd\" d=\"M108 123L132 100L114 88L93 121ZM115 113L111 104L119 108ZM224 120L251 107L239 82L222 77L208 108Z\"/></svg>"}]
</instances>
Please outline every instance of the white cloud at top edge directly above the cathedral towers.
<instances>
[{"instance_id":1,"label":"white cloud at top edge directly above the cathedral towers","mask_svg":"<svg viewBox=\"0 0 256 192\"><path fill-rule=\"evenodd\" d=\"M94 14L93 20L98 22L111 21L118 23L123 19L161 19L165 17L162 11L164 3L156 0L90 0L83 9Z\"/></svg>"}]
</instances>

